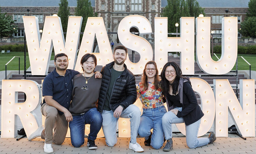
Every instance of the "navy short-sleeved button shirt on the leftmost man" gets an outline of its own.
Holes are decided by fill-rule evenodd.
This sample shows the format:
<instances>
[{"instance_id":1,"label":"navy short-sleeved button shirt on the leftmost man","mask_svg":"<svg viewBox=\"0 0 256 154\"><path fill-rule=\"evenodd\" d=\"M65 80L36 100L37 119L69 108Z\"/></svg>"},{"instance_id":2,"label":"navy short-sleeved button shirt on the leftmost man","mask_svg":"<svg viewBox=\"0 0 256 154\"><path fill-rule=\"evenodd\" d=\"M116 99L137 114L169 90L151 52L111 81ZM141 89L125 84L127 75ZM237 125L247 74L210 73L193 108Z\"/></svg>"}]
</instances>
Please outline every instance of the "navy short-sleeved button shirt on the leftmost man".
<instances>
[{"instance_id":1,"label":"navy short-sleeved button shirt on the leftmost man","mask_svg":"<svg viewBox=\"0 0 256 154\"><path fill-rule=\"evenodd\" d=\"M72 99L72 80L76 74L79 74L79 72L72 69L67 69L65 76L61 76L56 72L55 68L44 78L42 95L52 96L56 102L68 109ZM45 100L43 100L42 104L44 103ZM59 111L59 114L62 115L63 112Z\"/></svg>"}]
</instances>

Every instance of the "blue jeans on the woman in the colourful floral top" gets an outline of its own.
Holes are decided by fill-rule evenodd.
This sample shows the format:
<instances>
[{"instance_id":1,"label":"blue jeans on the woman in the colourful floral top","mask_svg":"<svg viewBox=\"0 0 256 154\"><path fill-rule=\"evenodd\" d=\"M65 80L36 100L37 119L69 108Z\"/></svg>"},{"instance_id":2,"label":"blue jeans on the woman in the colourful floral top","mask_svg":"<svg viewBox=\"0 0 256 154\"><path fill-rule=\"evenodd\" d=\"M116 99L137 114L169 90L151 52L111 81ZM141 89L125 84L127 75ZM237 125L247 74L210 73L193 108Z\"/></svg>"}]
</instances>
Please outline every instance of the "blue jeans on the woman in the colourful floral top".
<instances>
[{"instance_id":1,"label":"blue jeans on the woman in the colourful floral top","mask_svg":"<svg viewBox=\"0 0 256 154\"><path fill-rule=\"evenodd\" d=\"M143 108L138 133L147 140L151 129L153 129L150 145L154 149L160 149L163 146L165 135L163 134L162 116L166 112L166 108L163 105L156 108Z\"/></svg>"}]
</instances>

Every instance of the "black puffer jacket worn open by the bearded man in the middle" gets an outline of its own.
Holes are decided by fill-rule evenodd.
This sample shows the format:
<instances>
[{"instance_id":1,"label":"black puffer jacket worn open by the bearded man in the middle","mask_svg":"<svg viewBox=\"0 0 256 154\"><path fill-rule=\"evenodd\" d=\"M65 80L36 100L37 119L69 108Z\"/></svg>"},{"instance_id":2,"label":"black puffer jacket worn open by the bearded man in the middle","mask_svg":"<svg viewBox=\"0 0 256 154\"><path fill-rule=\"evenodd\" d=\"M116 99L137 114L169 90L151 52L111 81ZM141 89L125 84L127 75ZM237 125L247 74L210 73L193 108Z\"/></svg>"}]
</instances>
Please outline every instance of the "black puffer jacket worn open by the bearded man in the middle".
<instances>
[{"instance_id":1,"label":"black puffer jacket worn open by the bearded man in the middle","mask_svg":"<svg viewBox=\"0 0 256 154\"><path fill-rule=\"evenodd\" d=\"M106 92L108 90L111 78L111 68L113 67L114 63L115 62L107 64L101 70L103 77L98 100L99 112L102 112L105 103ZM115 85L113 86L110 97L110 108L113 112L119 105L126 109L129 105L133 104L137 98L135 77L132 72L127 69L125 64L124 67L124 72L115 81Z\"/></svg>"}]
</instances>

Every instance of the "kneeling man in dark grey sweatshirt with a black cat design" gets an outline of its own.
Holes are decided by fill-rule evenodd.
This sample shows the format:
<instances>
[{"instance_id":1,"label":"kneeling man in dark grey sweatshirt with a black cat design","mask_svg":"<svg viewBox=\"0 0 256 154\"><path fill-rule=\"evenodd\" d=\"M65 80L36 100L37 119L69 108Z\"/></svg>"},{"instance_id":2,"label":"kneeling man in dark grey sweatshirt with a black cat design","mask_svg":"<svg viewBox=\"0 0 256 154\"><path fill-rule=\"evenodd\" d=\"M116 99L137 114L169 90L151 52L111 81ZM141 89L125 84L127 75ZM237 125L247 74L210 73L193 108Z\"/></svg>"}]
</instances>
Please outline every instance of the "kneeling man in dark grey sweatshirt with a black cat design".
<instances>
[{"instance_id":1,"label":"kneeling man in dark grey sweatshirt with a black cat design","mask_svg":"<svg viewBox=\"0 0 256 154\"><path fill-rule=\"evenodd\" d=\"M84 144L85 124L90 124L88 149L97 149L95 139L102 125L102 116L96 108L101 79L95 79L94 68L97 65L96 56L85 54L81 59L83 73L73 78L72 102L69 111L73 121L69 122L71 143L74 147Z\"/></svg>"}]
</instances>

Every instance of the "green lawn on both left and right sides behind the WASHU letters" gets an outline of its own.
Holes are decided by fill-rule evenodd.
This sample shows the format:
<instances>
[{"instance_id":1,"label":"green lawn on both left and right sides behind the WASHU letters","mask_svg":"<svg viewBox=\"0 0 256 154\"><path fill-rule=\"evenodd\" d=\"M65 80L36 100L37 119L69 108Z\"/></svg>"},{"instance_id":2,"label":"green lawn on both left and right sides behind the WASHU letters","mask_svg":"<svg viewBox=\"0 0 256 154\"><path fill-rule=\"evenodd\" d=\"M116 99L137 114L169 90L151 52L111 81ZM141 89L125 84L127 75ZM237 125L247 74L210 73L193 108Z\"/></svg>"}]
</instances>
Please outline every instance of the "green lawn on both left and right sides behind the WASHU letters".
<instances>
[{"instance_id":1,"label":"green lawn on both left and right sides behind the WASHU letters","mask_svg":"<svg viewBox=\"0 0 256 154\"><path fill-rule=\"evenodd\" d=\"M26 68L28 69L29 64L29 57L28 52L26 52ZM219 58L221 54L216 54ZM20 57L20 70L24 70L24 52L11 52L11 53L4 53L0 54L0 71L5 70L5 64L12 59L13 56ZM251 64L251 69L256 71L256 54L238 54L238 56L243 56L246 61ZM54 52L52 52L51 60L54 59ZM217 61L217 58L213 56L213 60ZM19 60L18 58L14 58L11 63L7 65L7 70L18 70L19 69ZM236 65L234 65L232 70L236 70ZM249 65L243 61L242 58L238 58L238 70L249 70Z\"/></svg>"}]
</instances>

